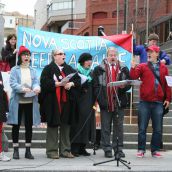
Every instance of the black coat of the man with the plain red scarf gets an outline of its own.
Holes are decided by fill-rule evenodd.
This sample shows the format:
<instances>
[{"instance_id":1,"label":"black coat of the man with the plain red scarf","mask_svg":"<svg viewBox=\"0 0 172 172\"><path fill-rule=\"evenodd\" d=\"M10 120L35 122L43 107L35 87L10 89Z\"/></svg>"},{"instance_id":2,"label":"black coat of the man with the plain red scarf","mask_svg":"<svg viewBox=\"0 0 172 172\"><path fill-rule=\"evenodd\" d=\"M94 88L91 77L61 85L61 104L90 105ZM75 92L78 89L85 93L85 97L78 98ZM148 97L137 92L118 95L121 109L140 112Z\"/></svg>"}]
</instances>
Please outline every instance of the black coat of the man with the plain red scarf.
<instances>
[{"instance_id":1,"label":"black coat of the man with the plain red scarf","mask_svg":"<svg viewBox=\"0 0 172 172\"><path fill-rule=\"evenodd\" d=\"M63 72L67 76L76 71L71 66L64 64ZM60 114L56 97L54 75L60 81L60 70L54 62L51 62L43 69L40 80L41 94L39 95L39 103L42 122L47 122L50 127L59 126L61 122L66 124L72 122L71 102L75 99L73 94L73 89L75 88L71 88L69 91L66 90L67 102L63 104L62 112ZM74 82L75 87L80 86L81 80L77 74L74 75L70 81Z\"/></svg>"}]
</instances>

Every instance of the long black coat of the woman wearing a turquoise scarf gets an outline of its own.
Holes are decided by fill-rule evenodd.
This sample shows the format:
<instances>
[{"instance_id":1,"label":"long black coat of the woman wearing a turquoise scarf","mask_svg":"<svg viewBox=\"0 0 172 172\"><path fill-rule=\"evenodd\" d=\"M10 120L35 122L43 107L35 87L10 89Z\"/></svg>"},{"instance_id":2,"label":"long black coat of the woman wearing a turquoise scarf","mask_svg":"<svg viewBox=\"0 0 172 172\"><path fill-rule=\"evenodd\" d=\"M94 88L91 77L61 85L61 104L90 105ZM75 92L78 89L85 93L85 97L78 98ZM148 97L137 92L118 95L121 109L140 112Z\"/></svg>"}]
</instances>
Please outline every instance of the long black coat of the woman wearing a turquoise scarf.
<instances>
[{"instance_id":1,"label":"long black coat of the woman wearing a turquoise scarf","mask_svg":"<svg viewBox=\"0 0 172 172\"><path fill-rule=\"evenodd\" d=\"M95 103L92 82L86 82L77 90L75 122L71 126L71 142L88 144L95 141Z\"/></svg>"}]
</instances>

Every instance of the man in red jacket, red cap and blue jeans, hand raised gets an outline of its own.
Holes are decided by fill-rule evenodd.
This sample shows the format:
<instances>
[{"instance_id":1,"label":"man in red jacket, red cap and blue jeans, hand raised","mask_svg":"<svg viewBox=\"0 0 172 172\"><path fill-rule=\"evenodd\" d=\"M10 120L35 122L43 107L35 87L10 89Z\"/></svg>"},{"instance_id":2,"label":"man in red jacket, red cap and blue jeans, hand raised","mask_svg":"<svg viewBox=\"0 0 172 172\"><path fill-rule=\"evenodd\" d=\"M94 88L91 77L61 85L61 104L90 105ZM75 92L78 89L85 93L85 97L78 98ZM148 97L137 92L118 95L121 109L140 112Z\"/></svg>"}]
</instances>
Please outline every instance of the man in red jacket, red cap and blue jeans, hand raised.
<instances>
[{"instance_id":1,"label":"man in red jacket, red cap and blue jeans, hand raised","mask_svg":"<svg viewBox=\"0 0 172 172\"><path fill-rule=\"evenodd\" d=\"M144 157L146 151L146 130L149 120L152 120L151 153L159 158L162 140L163 105L169 107L171 90L168 87L165 76L168 76L168 68L160 63L160 48L151 45L147 48L148 62L136 65L131 62L130 77L142 81L140 85L140 103L138 113L138 153L137 157Z\"/></svg>"}]
</instances>

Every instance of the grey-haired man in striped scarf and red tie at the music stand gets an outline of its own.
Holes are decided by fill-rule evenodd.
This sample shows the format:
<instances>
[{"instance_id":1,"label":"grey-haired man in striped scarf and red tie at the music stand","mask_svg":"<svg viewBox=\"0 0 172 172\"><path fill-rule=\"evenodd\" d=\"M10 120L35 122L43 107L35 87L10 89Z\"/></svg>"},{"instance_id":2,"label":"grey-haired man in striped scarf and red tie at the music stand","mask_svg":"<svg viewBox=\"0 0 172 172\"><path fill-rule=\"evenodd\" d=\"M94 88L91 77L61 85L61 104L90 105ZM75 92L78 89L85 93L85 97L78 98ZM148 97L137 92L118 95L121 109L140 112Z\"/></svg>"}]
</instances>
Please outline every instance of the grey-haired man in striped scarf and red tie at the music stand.
<instances>
[{"instance_id":1,"label":"grey-haired man in striped scarf and red tie at the music stand","mask_svg":"<svg viewBox=\"0 0 172 172\"><path fill-rule=\"evenodd\" d=\"M112 157L117 151L117 137L119 142L119 156L125 157L123 148L123 120L124 107L127 105L126 91L129 85L120 87L107 87L109 82L129 79L129 70L118 61L118 52L114 47L107 50L107 57L94 69L93 83L95 97L97 97L101 114L101 145L105 157ZM118 94L119 101L115 94ZM110 142L111 124L113 121L112 144Z\"/></svg>"}]
</instances>

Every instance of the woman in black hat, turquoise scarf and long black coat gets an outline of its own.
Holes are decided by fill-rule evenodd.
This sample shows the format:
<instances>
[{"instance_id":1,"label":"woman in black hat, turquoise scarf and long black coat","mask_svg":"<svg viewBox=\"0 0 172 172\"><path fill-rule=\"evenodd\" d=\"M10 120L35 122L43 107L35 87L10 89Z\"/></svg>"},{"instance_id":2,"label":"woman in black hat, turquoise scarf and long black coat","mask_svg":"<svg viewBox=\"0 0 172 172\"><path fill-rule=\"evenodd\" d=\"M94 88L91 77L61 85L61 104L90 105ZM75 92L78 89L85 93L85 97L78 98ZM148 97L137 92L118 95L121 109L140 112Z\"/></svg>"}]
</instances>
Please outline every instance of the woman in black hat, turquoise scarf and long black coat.
<instances>
[{"instance_id":1,"label":"woman in black hat, turquoise scarf and long black coat","mask_svg":"<svg viewBox=\"0 0 172 172\"><path fill-rule=\"evenodd\" d=\"M86 151L86 145L90 139L94 138L95 114L93 110L94 98L91 65L91 54L81 54L78 59L77 69L81 78L85 76L87 80L82 84L81 89L77 91L76 124L73 124L71 127L71 148L75 156L90 156L90 153Z\"/></svg>"}]
</instances>

